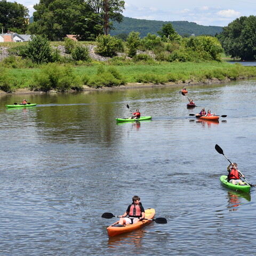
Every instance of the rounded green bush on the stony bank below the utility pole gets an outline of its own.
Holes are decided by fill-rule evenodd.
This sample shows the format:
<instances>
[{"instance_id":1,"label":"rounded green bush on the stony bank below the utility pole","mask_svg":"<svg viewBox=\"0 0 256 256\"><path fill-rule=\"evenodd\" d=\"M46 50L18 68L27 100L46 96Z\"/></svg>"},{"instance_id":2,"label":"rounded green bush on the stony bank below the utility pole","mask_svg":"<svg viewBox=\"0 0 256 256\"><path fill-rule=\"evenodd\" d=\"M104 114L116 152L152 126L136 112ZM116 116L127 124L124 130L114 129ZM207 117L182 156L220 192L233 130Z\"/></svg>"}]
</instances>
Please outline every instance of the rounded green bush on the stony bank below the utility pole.
<instances>
[{"instance_id":1,"label":"rounded green bush on the stony bank below the utility pole","mask_svg":"<svg viewBox=\"0 0 256 256\"><path fill-rule=\"evenodd\" d=\"M113 57L117 52L124 51L124 45L121 39L111 37L110 35L99 35L96 38L98 46L95 47L95 52L104 57Z\"/></svg>"}]
</instances>

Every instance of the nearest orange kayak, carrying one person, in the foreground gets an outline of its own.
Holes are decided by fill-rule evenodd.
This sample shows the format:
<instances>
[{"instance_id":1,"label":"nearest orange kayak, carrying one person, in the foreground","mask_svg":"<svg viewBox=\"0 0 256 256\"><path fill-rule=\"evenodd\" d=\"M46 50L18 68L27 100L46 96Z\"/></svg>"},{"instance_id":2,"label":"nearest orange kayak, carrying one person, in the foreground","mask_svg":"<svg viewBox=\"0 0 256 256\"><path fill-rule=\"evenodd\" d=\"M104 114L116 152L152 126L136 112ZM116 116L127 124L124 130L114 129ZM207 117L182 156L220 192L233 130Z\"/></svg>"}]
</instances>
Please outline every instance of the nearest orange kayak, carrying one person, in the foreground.
<instances>
[{"instance_id":1,"label":"nearest orange kayak, carrying one person, in the foreground","mask_svg":"<svg viewBox=\"0 0 256 256\"><path fill-rule=\"evenodd\" d=\"M145 218L146 219L153 219L154 216L155 216L155 209L149 208L149 209L145 210ZM108 236L112 237L112 236L117 236L117 235L121 235L124 233L128 233L133 230L142 228L151 222L152 222L151 220L142 220L142 221L139 221L134 224L125 225L123 227L114 227L114 225L118 224L118 221L117 221L113 225L111 225L107 228Z\"/></svg>"}]
</instances>

